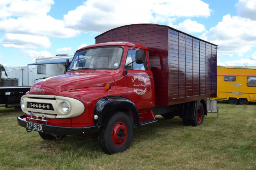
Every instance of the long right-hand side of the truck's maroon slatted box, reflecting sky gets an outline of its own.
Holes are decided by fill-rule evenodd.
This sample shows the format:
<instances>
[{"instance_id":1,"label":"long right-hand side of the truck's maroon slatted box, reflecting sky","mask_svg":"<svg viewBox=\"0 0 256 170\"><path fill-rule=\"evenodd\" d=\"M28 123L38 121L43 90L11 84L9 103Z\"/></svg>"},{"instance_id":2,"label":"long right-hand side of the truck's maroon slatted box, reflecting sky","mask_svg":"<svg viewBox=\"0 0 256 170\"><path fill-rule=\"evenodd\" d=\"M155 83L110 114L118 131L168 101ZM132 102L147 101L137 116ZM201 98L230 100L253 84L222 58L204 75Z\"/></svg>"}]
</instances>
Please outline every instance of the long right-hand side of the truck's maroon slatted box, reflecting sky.
<instances>
[{"instance_id":1,"label":"long right-hand side of the truck's maroon slatted box, reflecting sky","mask_svg":"<svg viewBox=\"0 0 256 170\"><path fill-rule=\"evenodd\" d=\"M215 45L169 29L169 105L209 98L217 92L216 72Z\"/></svg>"}]
</instances>

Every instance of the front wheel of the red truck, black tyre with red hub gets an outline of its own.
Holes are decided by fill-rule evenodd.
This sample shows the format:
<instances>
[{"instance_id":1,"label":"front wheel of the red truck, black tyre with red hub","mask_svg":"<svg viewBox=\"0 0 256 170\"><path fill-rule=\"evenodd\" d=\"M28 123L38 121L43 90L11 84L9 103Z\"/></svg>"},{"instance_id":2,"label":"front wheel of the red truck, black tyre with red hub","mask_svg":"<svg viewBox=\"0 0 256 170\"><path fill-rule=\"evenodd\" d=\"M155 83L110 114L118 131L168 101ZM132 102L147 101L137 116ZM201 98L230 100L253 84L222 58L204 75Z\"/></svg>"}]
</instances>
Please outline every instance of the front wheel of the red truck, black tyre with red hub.
<instances>
[{"instance_id":1,"label":"front wheel of the red truck, black tyre with red hub","mask_svg":"<svg viewBox=\"0 0 256 170\"><path fill-rule=\"evenodd\" d=\"M99 144L107 154L127 150L132 142L132 123L127 114L117 112L106 126L100 126Z\"/></svg>"}]
</instances>

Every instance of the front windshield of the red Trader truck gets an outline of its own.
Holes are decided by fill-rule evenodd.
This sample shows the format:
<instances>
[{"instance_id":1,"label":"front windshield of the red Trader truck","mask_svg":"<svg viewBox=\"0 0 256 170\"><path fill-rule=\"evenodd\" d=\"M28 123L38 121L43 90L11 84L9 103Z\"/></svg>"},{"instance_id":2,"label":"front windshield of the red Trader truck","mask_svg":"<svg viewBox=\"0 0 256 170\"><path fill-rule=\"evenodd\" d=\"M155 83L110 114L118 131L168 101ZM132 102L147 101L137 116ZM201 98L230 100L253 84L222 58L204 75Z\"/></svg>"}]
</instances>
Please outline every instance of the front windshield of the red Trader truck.
<instances>
[{"instance_id":1,"label":"front windshield of the red Trader truck","mask_svg":"<svg viewBox=\"0 0 256 170\"><path fill-rule=\"evenodd\" d=\"M85 49L75 54L68 71L80 69L118 69L123 49L121 47L99 47Z\"/></svg>"}]
</instances>

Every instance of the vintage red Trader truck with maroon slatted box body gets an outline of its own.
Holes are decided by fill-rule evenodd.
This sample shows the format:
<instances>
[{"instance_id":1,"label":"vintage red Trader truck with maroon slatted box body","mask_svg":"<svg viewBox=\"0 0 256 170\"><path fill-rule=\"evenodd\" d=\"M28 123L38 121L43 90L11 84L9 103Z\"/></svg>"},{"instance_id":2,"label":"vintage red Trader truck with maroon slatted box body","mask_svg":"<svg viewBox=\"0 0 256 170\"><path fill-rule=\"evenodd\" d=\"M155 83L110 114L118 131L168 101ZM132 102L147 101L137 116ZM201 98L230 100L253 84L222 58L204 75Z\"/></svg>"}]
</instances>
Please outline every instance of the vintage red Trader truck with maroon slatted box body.
<instances>
[{"instance_id":1,"label":"vintage red Trader truck with maroon slatted box body","mask_svg":"<svg viewBox=\"0 0 256 170\"><path fill-rule=\"evenodd\" d=\"M129 148L133 127L180 116L197 126L216 96L217 45L165 25L111 29L76 51L67 72L35 83L17 118L43 139L98 134L108 154Z\"/></svg>"}]
</instances>

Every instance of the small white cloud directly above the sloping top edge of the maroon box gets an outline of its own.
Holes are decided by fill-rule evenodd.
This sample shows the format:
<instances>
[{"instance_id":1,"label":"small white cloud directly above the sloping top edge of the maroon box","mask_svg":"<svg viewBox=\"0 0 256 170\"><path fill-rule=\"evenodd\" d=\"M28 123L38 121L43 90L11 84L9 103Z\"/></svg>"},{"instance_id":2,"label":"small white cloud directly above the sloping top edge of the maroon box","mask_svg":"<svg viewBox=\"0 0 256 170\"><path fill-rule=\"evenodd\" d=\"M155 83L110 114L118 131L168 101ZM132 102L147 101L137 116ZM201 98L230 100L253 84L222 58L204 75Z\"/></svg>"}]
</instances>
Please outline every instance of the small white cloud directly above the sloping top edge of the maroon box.
<instances>
[{"instance_id":1,"label":"small white cloud directly above the sloping top edge of the maroon box","mask_svg":"<svg viewBox=\"0 0 256 170\"><path fill-rule=\"evenodd\" d=\"M169 26L185 33L202 33L205 31L204 25L199 24L196 21L191 21L190 19L187 19L178 25L173 25L170 23Z\"/></svg>"}]
</instances>

